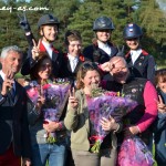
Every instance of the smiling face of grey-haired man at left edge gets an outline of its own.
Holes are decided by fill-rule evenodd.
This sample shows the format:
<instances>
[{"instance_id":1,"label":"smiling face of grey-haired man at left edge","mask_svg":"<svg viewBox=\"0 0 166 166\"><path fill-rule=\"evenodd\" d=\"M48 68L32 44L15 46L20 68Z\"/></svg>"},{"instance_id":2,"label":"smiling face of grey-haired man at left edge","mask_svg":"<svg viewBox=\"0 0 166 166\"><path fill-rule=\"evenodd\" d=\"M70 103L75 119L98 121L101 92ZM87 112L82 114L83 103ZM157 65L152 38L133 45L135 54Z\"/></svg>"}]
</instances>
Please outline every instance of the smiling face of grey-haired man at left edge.
<instances>
[{"instance_id":1,"label":"smiling face of grey-haired man at left edge","mask_svg":"<svg viewBox=\"0 0 166 166\"><path fill-rule=\"evenodd\" d=\"M22 54L15 51L9 51L8 55L1 59L1 63L3 73L7 73L10 70L15 74L21 68Z\"/></svg>"}]
</instances>

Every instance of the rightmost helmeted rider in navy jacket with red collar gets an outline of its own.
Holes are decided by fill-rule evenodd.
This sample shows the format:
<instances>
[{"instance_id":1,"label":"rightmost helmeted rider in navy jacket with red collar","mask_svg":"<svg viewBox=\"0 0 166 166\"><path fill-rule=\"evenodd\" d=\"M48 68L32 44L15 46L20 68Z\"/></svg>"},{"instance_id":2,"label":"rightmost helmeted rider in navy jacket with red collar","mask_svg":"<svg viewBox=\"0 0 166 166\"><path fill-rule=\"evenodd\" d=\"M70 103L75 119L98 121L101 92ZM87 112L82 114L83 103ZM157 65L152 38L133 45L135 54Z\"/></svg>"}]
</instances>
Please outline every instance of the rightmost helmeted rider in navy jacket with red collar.
<instances>
[{"instance_id":1,"label":"rightmost helmeted rider in navy jacket with red collar","mask_svg":"<svg viewBox=\"0 0 166 166\"><path fill-rule=\"evenodd\" d=\"M156 63L154 56L141 46L143 31L136 23L128 23L123 30L123 38L129 52L125 55L131 73L135 77L145 77L154 83Z\"/></svg>"}]
</instances>

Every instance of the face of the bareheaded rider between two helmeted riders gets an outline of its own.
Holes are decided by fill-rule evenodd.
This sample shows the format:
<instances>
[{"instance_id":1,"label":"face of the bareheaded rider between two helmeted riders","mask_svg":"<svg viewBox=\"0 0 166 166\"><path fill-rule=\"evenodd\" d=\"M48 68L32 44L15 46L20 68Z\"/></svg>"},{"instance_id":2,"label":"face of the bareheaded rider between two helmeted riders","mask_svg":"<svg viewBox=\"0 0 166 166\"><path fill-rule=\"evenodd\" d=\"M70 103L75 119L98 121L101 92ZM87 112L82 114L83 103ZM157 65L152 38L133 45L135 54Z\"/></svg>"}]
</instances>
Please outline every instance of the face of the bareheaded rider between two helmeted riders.
<instances>
[{"instance_id":1,"label":"face of the bareheaded rider between two helmeted riders","mask_svg":"<svg viewBox=\"0 0 166 166\"><path fill-rule=\"evenodd\" d=\"M76 56L81 53L82 43L80 40L69 41L68 52L72 56Z\"/></svg>"}]
</instances>

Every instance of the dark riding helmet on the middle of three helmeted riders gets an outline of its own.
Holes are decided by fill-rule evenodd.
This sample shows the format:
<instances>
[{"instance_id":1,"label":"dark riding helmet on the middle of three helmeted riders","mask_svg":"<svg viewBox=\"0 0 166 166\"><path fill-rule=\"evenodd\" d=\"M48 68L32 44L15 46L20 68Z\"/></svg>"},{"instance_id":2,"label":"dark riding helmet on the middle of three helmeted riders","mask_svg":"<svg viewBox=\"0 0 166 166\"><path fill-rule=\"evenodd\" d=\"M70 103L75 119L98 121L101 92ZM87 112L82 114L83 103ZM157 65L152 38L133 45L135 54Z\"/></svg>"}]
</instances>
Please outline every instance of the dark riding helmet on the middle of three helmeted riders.
<instances>
[{"instance_id":1,"label":"dark riding helmet on the middle of three helmeted riders","mask_svg":"<svg viewBox=\"0 0 166 166\"><path fill-rule=\"evenodd\" d=\"M93 23L93 31L97 30L114 30L112 19L107 17L100 17Z\"/></svg>"}]
</instances>

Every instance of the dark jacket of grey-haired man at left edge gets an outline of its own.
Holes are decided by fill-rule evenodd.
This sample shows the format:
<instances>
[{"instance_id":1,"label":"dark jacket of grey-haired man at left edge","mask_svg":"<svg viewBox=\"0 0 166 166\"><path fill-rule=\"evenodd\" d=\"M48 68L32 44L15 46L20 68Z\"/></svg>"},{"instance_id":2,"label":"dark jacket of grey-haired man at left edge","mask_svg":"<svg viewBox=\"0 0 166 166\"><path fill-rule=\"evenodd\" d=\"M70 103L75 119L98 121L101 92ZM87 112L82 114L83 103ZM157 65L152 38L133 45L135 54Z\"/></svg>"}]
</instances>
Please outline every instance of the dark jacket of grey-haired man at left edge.
<instances>
[{"instance_id":1,"label":"dark jacket of grey-haired man at left edge","mask_svg":"<svg viewBox=\"0 0 166 166\"><path fill-rule=\"evenodd\" d=\"M0 76L0 91L2 83ZM6 97L0 94L0 154L4 154L12 143L17 156L31 157L27 93L17 82L14 101L10 91Z\"/></svg>"}]
</instances>

